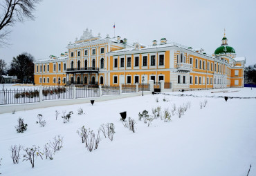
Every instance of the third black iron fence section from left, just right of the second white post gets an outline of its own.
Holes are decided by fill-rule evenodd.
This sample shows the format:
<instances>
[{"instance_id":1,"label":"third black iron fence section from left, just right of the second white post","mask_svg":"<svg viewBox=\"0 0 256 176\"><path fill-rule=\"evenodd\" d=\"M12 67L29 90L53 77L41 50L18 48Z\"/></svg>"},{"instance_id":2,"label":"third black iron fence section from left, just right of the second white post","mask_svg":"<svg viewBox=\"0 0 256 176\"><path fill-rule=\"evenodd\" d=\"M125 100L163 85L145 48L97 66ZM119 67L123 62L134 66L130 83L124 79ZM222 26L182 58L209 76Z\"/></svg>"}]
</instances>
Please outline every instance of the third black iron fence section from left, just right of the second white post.
<instances>
[{"instance_id":1,"label":"third black iron fence section from left, just right of the second white post","mask_svg":"<svg viewBox=\"0 0 256 176\"><path fill-rule=\"evenodd\" d=\"M100 97L100 90L98 88L90 88L88 86L76 88L76 97L77 98Z\"/></svg>"}]
</instances>

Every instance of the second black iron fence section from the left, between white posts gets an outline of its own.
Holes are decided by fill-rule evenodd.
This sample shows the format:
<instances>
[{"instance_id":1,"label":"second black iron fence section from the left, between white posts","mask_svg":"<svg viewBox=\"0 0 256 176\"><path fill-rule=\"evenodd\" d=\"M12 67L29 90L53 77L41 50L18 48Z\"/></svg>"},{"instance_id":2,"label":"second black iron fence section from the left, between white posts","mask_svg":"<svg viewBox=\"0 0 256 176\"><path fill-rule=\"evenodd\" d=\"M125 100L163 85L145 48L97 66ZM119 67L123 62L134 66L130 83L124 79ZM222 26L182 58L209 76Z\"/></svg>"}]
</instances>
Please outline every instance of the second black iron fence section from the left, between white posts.
<instances>
[{"instance_id":1,"label":"second black iron fence section from the left, between white posts","mask_svg":"<svg viewBox=\"0 0 256 176\"><path fill-rule=\"evenodd\" d=\"M73 99L73 88L64 86L44 87L43 100L51 99Z\"/></svg>"}]
</instances>

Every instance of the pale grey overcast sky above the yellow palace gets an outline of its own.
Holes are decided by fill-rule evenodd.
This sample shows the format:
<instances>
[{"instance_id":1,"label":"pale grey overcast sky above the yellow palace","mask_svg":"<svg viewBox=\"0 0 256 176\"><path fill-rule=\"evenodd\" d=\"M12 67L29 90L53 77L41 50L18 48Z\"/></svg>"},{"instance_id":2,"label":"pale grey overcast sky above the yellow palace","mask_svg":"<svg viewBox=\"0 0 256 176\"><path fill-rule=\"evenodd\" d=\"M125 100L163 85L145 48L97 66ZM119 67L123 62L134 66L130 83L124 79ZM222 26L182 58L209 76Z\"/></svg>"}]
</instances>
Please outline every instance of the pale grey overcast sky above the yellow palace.
<instances>
[{"instance_id":1,"label":"pale grey overcast sky above the yellow palace","mask_svg":"<svg viewBox=\"0 0 256 176\"><path fill-rule=\"evenodd\" d=\"M69 41L80 39L83 30L100 32L102 37L116 35L145 45L165 37L208 54L221 45L226 28L228 45L237 57L246 57L246 65L256 63L255 0L129 0L84 1L44 0L37 6L35 21L16 23L8 48L0 48L0 59L29 52L35 59L65 52Z\"/></svg>"}]
</instances>

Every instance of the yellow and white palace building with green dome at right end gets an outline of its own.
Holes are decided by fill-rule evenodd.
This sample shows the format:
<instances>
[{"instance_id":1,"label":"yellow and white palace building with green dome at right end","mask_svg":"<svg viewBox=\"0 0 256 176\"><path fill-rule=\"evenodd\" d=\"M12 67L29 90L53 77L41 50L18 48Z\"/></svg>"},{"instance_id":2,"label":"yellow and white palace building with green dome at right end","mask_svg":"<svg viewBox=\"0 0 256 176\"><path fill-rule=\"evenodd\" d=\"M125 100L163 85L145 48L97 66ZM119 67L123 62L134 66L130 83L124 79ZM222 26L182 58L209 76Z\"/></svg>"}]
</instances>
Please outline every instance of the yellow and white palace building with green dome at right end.
<instances>
[{"instance_id":1,"label":"yellow and white palace building with green dome at right end","mask_svg":"<svg viewBox=\"0 0 256 176\"><path fill-rule=\"evenodd\" d=\"M35 84L98 85L170 83L173 91L244 87L245 57L236 57L225 34L212 55L203 49L167 43L129 44L121 37L97 37L86 29L60 57L35 61Z\"/></svg>"}]
</instances>

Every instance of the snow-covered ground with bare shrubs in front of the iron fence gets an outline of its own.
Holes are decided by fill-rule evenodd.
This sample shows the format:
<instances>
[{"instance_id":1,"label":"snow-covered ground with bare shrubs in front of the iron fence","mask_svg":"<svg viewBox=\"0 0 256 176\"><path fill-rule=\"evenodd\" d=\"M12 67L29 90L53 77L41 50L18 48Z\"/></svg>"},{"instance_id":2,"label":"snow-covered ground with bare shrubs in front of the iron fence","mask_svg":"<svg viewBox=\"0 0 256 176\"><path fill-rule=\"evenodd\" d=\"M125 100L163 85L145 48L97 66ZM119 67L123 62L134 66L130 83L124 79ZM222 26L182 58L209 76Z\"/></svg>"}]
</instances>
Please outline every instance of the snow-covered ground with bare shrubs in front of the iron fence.
<instances>
[{"instance_id":1,"label":"snow-covered ground with bare shrubs in front of the iron fence","mask_svg":"<svg viewBox=\"0 0 256 176\"><path fill-rule=\"evenodd\" d=\"M201 90L183 92L203 97L179 97L172 95L145 95L113 101L95 102L72 106L56 106L26 110L15 114L0 115L0 166L2 175L256 175L256 99L228 99L205 97L210 95L232 95L232 97L255 97L250 88L224 89L224 93ZM236 91L235 90L239 90ZM170 92L181 94L181 92ZM158 98L158 102L156 102ZM163 101L163 99L169 101ZM200 109L200 102L208 104ZM161 106L172 109L191 102L181 118L172 116L172 121L156 119L147 127L138 121L138 113ZM83 108L85 114L78 115ZM71 121L64 124L55 110L73 110ZM136 133L132 133L120 122L120 112L136 120ZM46 126L36 124L37 115L42 114ZM28 124L25 133L17 133L17 119L24 118ZM76 131L85 126L97 131L101 124L113 123L116 134L113 141L101 135L100 145L91 153L86 150ZM55 153L53 160L37 157L35 168L29 162L12 164L10 146L21 144L41 148L56 135L62 135L63 148ZM23 151L21 152L24 153Z\"/></svg>"}]
</instances>

